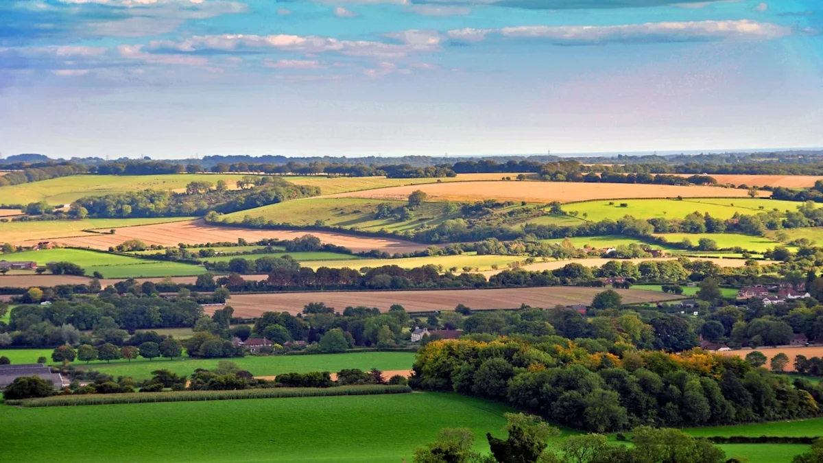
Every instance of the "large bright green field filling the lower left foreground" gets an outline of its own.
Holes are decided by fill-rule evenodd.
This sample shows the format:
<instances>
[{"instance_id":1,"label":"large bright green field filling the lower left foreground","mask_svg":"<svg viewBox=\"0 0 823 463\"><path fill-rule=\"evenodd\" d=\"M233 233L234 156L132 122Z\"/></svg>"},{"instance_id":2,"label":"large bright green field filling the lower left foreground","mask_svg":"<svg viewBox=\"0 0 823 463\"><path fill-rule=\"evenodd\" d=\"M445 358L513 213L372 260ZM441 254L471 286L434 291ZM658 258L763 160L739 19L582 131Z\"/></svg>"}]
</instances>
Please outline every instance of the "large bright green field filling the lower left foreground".
<instances>
[{"instance_id":1,"label":"large bright green field filling the lower left foreground","mask_svg":"<svg viewBox=\"0 0 823 463\"><path fill-rule=\"evenodd\" d=\"M19 409L0 413L6 461L412 461L441 428L477 449L504 405L453 394L303 397ZM60 436L59 446L44 446ZM36 449L36 451L34 450Z\"/></svg>"}]
</instances>

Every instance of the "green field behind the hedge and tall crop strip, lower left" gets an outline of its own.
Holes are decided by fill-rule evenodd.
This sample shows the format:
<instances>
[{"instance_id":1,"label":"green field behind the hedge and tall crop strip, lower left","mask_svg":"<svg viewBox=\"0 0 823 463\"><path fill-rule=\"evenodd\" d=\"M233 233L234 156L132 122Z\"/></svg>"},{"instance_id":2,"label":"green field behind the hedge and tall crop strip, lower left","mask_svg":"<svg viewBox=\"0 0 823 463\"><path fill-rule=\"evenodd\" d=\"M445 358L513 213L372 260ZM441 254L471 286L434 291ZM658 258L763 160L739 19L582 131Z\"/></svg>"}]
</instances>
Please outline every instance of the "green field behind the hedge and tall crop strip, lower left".
<instances>
[{"instance_id":1,"label":"green field behind the hedge and tall crop strip, lower left","mask_svg":"<svg viewBox=\"0 0 823 463\"><path fill-rule=\"evenodd\" d=\"M161 330L157 330L161 332ZM169 334L169 333L165 333ZM49 359L53 349L30 348L30 349L2 349L0 356L4 355L12 361L12 365L19 363L34 363L39 357ZM313 355L275 355L269 357L244 357L229 358L239 367L252 372L254 376L276 376L288 372L316 372L328 371L339 372L343 368L360 368L370 370L377 368L381 371L408 370L412 368L415 353L412 352L354 352L354 353L319 353ZM165 368L179 375L191 375L197 368L211 369L217 366L217 362L226 358L192 359L188 357L156 358L148 361L145 358L135 358L131 362L127 360L114 360L111 363L95 360L88 364L89 368L105 372L112 376L132 376L134 379L151 378L151 372ZM77 367L86 366L86 362L75 361Z\"/></svg>"}]
</instances>

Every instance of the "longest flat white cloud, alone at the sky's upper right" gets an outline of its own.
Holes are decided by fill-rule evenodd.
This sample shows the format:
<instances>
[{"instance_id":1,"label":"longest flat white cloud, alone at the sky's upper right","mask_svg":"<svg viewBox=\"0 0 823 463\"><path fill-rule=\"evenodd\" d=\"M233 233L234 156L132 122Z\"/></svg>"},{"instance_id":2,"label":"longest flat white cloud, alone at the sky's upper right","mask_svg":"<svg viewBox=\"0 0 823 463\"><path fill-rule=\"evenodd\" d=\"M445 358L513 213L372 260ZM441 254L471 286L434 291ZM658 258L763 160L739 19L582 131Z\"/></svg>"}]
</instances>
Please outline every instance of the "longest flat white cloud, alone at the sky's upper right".
<instances>
[{"instance_id":1,"label":"longest flat white cloud, alone at the sky's upper right","mask_svg":"<svg viewBox=\"0 0 823 463\"><path fill-rule=\"evenodd\" d=\"M587 45L698 40L774 39L791 35L791 28L772 23L741 21L649 22L621 26L515 26L501 29L449 30L449 38L477 42L495 34L540 39L554 44Z\"/></svg>"}]
</instances>

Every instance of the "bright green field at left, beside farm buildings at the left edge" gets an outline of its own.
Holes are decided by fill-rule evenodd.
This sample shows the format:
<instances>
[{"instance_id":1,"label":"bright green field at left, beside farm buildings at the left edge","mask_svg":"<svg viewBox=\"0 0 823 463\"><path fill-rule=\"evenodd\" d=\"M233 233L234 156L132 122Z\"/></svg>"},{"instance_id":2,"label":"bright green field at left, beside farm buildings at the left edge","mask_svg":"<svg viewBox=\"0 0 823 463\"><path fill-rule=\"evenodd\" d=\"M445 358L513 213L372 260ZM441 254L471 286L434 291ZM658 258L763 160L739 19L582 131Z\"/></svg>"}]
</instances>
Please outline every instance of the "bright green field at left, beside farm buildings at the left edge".
<instances>
[{"instance_id":1,"label":"bright green field at left, beside farm buildings at the left edge","mask_svg":"<svg viewBox=\"0 0 823 463\"><path fill-rule=\"evenodd\" d=\"M86 275L100 272L105 278L183 277L206 273L206 269L200 265L68 248L16 252L14 259L33 260L38 265L45 265L47 262L72 262L85 269Z\"/></svg>"}]
</instances>

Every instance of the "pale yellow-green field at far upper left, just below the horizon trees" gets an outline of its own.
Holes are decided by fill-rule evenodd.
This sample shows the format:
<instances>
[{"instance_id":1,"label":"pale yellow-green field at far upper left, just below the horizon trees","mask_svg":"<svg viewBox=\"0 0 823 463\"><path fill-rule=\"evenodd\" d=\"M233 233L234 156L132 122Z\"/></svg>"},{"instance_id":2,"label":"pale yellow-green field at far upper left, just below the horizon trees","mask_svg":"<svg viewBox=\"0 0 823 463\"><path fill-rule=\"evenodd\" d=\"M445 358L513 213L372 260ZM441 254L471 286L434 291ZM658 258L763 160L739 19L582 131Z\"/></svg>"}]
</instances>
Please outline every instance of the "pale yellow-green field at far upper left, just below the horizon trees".
<instances>
[{"instance_id":1,"label":"pale yellow-green field at far upper left, just below the horizon trees","mask_svg":"<svg viewBox=\"0 0 823 463\"><path fill-rule=\"evenodd\" d=\"M226 180L234 186L243 175L169 174L169 175L72 175L0 187L0 197L13 198L17 203L45 201L53 205L72 203L84 196L125 193L142 189L172 189L180 191L193 181Z\"/></svg>"}]
</instances>

